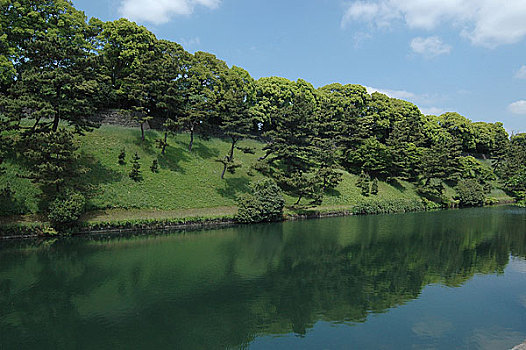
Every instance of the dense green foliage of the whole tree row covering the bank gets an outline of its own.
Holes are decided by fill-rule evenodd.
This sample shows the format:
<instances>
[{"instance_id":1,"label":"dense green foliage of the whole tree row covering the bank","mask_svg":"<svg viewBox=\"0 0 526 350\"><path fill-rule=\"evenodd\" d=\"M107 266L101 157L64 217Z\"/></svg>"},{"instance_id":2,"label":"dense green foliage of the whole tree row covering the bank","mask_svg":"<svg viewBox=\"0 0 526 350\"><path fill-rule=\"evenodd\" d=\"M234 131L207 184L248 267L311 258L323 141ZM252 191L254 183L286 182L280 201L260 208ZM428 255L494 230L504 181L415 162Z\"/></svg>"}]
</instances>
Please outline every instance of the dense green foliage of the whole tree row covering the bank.
<instances>
[{"instance_id":1,"label":"dense green foliage of the whole tree row covering the bank","mask_svg":"<svg viewBox=\"0 0 526 350\"><path fill-rule=\"evenodd\" d=\"M41 208L70 188L102 191L103 179L82 176L84 189L72 179L94 156L81 157L75 138L93 134L98 125L91 116L104 109L122 110L123 119L140 126L137 159L128 170L135 181L161 177L163 168L175 176L177 163L196 152L199 136L229 141L213 155L214 176L228 185L238 181L240 168L247 175L257 170L297 206L320 205L347 188L348 173L361 174L363 196L381 192L379 180L407 181L426 200L445 205L452 197L447 189L462 179L485 193L499 179L515 197L526 193L525 136L510 140L501 123L473 123L458 113L424 116L409 102L368 94L360 85L316 89L301 79L255 81L242 68L210 53L190 54L126 19L87 21L67 0L5 0L0 12L0 172L9 163L38 184ZM145 126L159 130L154 140ZM189 136L187 153L173 143L181 133ZM240 146L249 138L265 144L257 162L246 163L244 155L255 150ZM122 152L113 155L121 165L123 147L129 146L119 145ZM139 154L152 170L148 176L140 173ZM198 177L208 176L207 166ZM118 200L110 205L120 206Z\"/></svg>"}]
</instances>

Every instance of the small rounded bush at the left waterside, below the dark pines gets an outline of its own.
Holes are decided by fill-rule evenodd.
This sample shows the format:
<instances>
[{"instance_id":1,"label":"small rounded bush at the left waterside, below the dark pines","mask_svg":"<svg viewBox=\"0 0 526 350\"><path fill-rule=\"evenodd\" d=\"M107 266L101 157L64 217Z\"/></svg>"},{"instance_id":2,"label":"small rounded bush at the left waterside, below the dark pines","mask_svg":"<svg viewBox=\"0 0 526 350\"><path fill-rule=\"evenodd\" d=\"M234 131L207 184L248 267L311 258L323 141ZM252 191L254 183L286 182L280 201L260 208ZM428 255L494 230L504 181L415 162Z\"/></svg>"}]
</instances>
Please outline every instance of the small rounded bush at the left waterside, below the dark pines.
<instances>
[{"instance_id":1,"label":"small rounded bush at the left waterside, below the dark pines","mask_svg":"<svg viewBox=\"0 0 526 350\"><path fill-rule=\"evenodd\" d=\"M48 219L57 230L74 226L84 213L86 199L80 193L68 191L49 206Z\"/></svg>"}]
</instances>

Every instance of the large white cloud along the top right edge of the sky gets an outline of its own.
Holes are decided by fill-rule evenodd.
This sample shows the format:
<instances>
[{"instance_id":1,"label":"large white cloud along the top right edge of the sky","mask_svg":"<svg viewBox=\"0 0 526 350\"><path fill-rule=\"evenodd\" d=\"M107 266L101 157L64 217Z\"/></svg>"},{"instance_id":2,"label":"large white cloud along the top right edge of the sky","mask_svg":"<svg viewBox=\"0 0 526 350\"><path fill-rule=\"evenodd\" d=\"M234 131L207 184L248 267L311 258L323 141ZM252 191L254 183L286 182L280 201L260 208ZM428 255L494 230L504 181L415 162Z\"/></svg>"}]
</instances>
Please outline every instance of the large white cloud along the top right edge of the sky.
<instances>
[{"instance_id":1,"label":"large white cloud along the top right edge of the sky","mask_svg":"<svg viewBox=\"0 0 526 350\"><path fill-rule=\"evenodd\" d=\"M412 29L457 29L474 45L496 47L526 37L524 0L367 0L349 4L342 26L366 22L388 27L395 22Z\"/></svg>"}]
</instances>

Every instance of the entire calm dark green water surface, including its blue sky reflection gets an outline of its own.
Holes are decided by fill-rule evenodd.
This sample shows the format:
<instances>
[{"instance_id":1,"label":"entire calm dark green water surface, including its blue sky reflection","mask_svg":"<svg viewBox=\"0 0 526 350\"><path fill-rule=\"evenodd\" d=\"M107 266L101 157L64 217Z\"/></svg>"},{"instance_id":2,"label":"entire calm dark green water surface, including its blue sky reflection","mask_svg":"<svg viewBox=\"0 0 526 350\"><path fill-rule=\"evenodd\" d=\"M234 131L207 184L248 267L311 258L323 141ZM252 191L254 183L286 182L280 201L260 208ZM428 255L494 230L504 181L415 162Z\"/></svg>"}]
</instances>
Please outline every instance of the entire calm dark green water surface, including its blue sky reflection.
<instances>
[{"instance_id":1,"label":"entire calm dark green water surface, including its blue sky reflection","mask_svg":"<svg viewBox=\"0 0 526 350\"><path fill-rule=\"evenodd\" d=\"M526 210L0 243L1 349L509 349Z\"/></svg>"}]
</instances>

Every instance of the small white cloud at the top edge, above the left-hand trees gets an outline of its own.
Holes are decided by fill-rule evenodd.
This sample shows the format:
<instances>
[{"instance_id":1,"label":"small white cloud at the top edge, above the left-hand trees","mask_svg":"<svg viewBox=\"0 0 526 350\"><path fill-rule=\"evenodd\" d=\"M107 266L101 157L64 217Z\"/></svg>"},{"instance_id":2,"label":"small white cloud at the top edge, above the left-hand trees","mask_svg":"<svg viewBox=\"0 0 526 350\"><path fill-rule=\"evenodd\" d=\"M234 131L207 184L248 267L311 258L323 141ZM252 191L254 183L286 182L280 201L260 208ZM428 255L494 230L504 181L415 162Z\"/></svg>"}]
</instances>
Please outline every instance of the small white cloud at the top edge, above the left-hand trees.
<instances>
[{"instance_id":1,"label":"small white cloud at the top edge, above the left-hand trees","mask_svg":"<svg viewBox=\"0 0 526 350\"><path fill-rule=\"evenodd\" d=\"M162 24L173 16L191 15L197 5L217 8L220 0L121 0L119 13L132 21Z\"/></svg>"}]
</instances>

